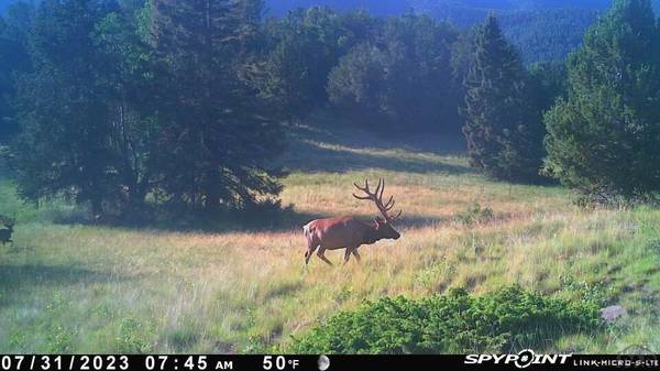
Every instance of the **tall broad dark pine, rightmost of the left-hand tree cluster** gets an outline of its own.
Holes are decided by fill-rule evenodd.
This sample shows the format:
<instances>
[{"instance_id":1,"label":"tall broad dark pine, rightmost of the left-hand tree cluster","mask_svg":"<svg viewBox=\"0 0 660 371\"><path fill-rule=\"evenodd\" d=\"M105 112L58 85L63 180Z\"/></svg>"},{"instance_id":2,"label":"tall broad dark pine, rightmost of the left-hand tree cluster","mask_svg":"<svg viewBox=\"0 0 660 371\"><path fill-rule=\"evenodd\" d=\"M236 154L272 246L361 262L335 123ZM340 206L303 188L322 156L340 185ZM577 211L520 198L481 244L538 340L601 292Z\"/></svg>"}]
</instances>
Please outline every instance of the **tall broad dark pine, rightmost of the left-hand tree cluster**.
<instances>
[{"instance_id":1,"label":"tall broad dark pine, rightmost of the left-hand tree cluster","mask_svg":"<svg viewBox=\"0 0 660 371\"><path fill-rule=\"evenodd\" d=\"M283 148L282 129L258 114L245 65L256 36L254 3L153 1L164 126L156 167L160 190L174 204L217 210L279 190L266 163Z\"/></svg>"}]
</instances>

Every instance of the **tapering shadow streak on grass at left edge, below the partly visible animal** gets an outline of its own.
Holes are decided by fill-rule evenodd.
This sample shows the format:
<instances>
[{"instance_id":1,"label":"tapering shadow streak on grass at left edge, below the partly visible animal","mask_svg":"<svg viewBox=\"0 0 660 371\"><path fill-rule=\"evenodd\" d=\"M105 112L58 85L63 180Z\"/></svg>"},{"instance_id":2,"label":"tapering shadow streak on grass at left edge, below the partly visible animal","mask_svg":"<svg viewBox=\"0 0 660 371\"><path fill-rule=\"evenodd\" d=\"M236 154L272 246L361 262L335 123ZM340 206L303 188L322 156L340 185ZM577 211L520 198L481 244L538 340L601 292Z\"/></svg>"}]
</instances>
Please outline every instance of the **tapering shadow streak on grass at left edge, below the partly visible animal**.
<instances>
[{"instance_id":1,"label":"tapering shadow streak on grass at left edge, below the partly visible animal","mask_svg":"<svg viewBox=\"0 0 660 371\"><path fill-rule=\"evenodd\" d=\"M125 280L131 279L72 266L0 264L0 293L35 286L90 284ZM0 295L0 305L8 304L8 295Z\"/></svg>"}]
</instances>

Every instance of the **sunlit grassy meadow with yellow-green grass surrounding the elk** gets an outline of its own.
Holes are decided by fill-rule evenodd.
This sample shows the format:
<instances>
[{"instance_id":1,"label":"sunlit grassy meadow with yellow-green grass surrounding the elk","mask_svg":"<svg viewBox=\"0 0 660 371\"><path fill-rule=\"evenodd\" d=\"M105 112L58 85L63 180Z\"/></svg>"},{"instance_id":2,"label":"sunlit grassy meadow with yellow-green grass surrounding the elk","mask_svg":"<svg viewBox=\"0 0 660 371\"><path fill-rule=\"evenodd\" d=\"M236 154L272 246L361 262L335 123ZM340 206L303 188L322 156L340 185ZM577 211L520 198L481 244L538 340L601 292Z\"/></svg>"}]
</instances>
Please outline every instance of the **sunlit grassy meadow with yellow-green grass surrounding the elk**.
<instances>
[{"instance_id":1,"label":"sunlit grassy meadow with yellow-green grass surrounding the elk","mask_svg":"<svg viewBox=\"0 0 660 371\"><path fill-rule=\"evenodd\" d=\"M80 225L76 207L24 205L1 178L0 214L18 222L15 244L0 245L0 352L278 351L365 299L513 283L629 313L539 351L660 351L660 210L586 210L559 186L491 182L468 166L460 140L308 127L290 135L282 200L293 211L262 229ZM377 177L404 210L402 238L361 248L361 264L341 265L343 251L330 251L334 268L314 257L306 270L301 226L375 216L351 193L353 182ZM474 203L493 217L460 222Z\"/></svg>"}]
</instances>

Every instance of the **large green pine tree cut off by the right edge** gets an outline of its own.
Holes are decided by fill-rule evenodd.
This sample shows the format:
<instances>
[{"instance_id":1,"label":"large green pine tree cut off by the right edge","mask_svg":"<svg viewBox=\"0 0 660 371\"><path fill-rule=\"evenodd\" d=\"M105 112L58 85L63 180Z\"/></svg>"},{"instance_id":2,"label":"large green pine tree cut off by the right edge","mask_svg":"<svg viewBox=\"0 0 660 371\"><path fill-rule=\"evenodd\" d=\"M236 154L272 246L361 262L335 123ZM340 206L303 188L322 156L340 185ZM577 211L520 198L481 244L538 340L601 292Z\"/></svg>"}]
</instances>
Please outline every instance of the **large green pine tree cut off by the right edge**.
<instances>
[{"instance_id":1,"label":"large green pine tree cut off by the right edge","mask_svg":"<svg viewBox=\"0 0 660 371\"><path fill-rule=\"evenodd\" d=\"M546 114L546 170L598 200L660 190L660 32L649 0L617 0L569 61Z\"/></svg>"}]
</instances>

